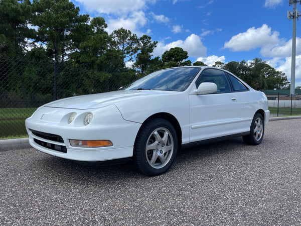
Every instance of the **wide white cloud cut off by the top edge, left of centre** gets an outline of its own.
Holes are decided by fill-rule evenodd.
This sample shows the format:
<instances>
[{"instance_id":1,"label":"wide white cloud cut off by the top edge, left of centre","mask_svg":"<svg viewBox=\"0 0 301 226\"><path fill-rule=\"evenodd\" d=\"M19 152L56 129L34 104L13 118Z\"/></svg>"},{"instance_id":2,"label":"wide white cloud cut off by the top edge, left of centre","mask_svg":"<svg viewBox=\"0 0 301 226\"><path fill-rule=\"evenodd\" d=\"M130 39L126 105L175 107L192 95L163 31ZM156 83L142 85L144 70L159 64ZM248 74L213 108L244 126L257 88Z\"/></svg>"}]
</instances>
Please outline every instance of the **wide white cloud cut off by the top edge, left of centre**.
<instances>
[{"instance_id":1,"label":"wide white cloud cut off by the top edge, left of centre","mask_svg":"<svg viewBox=\"0 0 301 226\"><path fill-rule=\"evenodd\" d=\"M89 11L102 14L127 14L143 9L148 0L75 0L85 6Z\"/></svg>"}]
</instances>

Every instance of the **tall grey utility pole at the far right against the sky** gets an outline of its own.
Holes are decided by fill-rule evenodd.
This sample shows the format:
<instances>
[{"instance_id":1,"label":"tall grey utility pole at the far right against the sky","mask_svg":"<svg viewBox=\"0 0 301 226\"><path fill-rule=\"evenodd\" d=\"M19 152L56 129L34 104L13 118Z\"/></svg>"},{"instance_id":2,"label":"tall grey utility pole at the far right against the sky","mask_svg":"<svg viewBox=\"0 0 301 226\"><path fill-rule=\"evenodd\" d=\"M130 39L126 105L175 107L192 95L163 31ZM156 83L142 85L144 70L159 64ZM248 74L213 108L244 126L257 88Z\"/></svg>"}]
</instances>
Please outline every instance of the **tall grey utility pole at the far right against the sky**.
<instances>
[{"instance_id":1,"label":"tall grey utility pole at the far right against the sky","mask_svg":"<svg viewBox=\"0 0 301 226\"><path fill-rule=\"evenodd\" d=\"M295 69L296 69L296 20L299 20L301 14L297 10L297 3L301 0L289 0L289 6L293 6L293 11L287 12L287 19L292 19L292 45L291 45L291 69L290 69L290 94L294 95L295 89Z\"/></svg>"}]
</instances>

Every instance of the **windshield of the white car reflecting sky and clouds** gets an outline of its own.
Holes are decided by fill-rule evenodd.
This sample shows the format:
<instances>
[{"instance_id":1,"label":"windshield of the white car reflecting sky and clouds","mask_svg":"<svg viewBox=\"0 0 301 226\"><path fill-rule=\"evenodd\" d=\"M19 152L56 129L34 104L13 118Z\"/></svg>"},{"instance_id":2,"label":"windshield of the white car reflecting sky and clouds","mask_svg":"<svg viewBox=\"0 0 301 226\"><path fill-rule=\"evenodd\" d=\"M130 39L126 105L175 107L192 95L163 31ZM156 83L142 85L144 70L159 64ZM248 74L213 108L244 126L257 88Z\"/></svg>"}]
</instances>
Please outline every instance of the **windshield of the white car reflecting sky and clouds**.
<instances>
[{"instance_id":1,"label":"windshield of the white car reflecting sky and clouds","mask_svg":"<svg viewBox=\"0 0 301 226\"><path fill-rule=\"evenodd\" d=\"M121 90L150 89L183 91L199 70L200 68L198 67L181 67L156 71L124 86Z\"/></svg>"}]
</instances>

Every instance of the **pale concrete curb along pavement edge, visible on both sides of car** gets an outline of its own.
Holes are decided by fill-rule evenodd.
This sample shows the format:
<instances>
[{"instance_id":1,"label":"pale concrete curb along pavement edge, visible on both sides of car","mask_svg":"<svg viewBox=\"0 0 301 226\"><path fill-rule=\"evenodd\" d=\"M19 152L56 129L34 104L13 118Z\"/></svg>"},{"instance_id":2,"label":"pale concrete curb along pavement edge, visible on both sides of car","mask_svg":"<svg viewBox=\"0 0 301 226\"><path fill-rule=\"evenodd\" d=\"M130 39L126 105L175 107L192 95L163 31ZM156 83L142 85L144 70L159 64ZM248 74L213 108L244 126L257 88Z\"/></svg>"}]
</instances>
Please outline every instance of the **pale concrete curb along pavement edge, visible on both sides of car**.
<instances>
[{"instance_id":1,"label":"pale concrete curb along pavement edge, visible on both sides of car","mask_svg":"<svg viewBox=\"0 0 301 226\"><path fill-rule=\"evenodd\" d=\"M301 116L272 117L269 118L269 121L291 120L291 119L301 119ZM8 151L11 149L28 149L28 148L32 148L29 144L29 138L0 140L0 151Z\"/></svg>"}]
</instances>

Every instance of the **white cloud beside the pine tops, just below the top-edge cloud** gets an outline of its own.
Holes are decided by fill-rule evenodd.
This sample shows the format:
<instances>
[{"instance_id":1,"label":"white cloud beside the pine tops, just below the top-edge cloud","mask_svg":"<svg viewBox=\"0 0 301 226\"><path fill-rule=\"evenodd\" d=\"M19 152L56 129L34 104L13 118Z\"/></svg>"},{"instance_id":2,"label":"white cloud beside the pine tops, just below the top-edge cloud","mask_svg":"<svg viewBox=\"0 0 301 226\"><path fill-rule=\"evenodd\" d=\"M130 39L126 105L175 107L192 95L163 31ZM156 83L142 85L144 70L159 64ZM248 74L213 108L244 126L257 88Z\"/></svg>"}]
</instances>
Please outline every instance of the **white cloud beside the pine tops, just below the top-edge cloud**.
<instances>
[{"instance_id":1,"label":"white cloud beside the pine tops, just below the top-edge cloud","mask_svg":"<svg viewBox=\"0 0 301 226\"><path fill-rule=\"evenodd\" d=\"M142 11L133 12L127 18L109 19L107 24L107 32L110 34L114 30L124 28L130 30L132 33L141 36L142 34L138 31L139 28L143 27L147 19Z\"/></svg>"}]
</instances>

